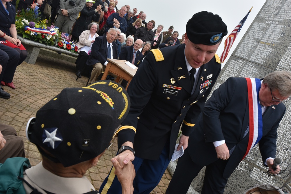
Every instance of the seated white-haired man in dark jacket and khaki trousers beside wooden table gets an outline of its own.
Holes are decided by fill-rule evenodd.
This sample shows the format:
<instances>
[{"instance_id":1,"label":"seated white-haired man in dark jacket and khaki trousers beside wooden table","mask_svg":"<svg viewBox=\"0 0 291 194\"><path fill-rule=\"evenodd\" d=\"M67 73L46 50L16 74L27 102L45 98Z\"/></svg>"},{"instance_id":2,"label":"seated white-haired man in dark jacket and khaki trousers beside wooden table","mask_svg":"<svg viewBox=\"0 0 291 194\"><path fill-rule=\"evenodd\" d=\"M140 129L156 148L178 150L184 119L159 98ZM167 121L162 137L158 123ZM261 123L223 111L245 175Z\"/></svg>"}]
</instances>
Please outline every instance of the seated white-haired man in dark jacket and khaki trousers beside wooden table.
<instances>
[{"instance_id":1,"label":"seated white-haired man in dark jacket and khaki trousers beside wooden table","mask_svg":"<svg viewBox=\"0 0 291 194\"><path fill-rule=\"evenodd\" d=\"M107 58L117 59L117 45L113 42L116 36L116 29L110 28L106 36L99 36L95 39L91 54L86 62L87 65L93 65L89 83L95 82L102 71L105 70L108 63ZM115 77L113 74L111 76Z\"/></svg>"}]
</instances>

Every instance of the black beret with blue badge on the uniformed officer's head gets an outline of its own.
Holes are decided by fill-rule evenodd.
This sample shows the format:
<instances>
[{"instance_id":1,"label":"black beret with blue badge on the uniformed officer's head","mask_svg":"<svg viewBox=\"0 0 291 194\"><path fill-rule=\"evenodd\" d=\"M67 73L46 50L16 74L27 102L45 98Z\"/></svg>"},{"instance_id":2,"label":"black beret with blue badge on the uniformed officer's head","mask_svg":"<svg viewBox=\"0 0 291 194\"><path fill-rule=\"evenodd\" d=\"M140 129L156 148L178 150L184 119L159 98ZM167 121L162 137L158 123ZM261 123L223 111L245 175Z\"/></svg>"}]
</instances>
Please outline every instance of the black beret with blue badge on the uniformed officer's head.
<instances>
[{"instance_id":1,"label":"black beret with blue badge on the uniformed officer's head","mask_svg":"<svg viewBox=\"0 0 291 194\"><path fill-rule=\"evenodd\" d=\"M195 44L216 45L227 35L226 24L219 15L202 11L193 15L186 24L186 34Z\"/></svg>"}]
</instances>

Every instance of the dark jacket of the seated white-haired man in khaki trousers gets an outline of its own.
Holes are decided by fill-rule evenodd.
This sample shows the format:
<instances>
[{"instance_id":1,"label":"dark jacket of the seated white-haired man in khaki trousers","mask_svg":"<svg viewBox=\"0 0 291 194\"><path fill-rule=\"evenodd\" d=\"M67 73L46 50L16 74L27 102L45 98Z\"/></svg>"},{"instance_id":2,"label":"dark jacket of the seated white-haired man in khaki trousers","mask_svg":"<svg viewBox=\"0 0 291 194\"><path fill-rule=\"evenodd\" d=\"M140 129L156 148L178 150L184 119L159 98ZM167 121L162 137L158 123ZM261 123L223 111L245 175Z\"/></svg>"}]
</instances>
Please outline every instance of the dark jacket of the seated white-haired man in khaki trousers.
<instances>
[{"instance_id":1,"label":"dark jacket of the seated white-haired man in khaki trousers","mask_svg":"<svg viewBox=\"0 0 291 194\"><path fill-rule=\"evenodd\" d=\"M101 63L103 65L107 61L107 47L106 36L96 37L86 64L94 65L96 63ZM113 59L117 59L117 45L115 42L112 42L112 52Z\"/></svg>"}]
</instances>

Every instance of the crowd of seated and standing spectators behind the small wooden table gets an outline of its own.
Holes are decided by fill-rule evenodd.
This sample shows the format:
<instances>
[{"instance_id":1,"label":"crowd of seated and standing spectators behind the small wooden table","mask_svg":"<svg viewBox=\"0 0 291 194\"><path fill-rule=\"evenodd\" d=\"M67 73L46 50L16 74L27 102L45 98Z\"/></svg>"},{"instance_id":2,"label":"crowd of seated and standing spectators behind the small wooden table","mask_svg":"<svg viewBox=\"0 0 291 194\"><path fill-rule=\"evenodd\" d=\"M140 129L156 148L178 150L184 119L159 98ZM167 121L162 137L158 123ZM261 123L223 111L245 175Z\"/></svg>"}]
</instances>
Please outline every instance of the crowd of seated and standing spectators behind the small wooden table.
<instances>
[{"instance_id":1,"label":"crowd of seated and standing spectators behind the small wooden table","mask_svg":"<svg viewBox=\"0 0 291 194\"><path fill-rule=\"evenodd\" d=\"M173 32L173 26L170 26L168 31L162 32L163 25L160 24L155 29L154 20L145 22L146 14L141 11L136 15L137 8L131 10L130 6L126 5L117 10L117 0L102 2L104 10L94 6L97 5L98 1L86 0L84 9L87 15L84 14L83 9L72 30L73 40L78 41L79 56L76 60L76 75L81 77L81 73L88 74L90 76L89 83L101 78L100 75L108 63L107 58L127 60L138 67L150 49L179 45L184 41L185 34L182 39L178 39L179 33L178 31ZM104 13L102 14L102 12ZM94 20L92 18L92 14L93 16L94 14L97 15L94 17L98 18L99 22L98 19ZM98 14L103 15L103 17ZM80 19L83 22L79 22ZM75 29L77 24L81 23L83 28L84 21L92 21L92 19L96 23L89 24L88 30L84 29L81 32L79 25L78 29ZM91 35L89 35L89 32L91 32ZM86 36L84 36L84 33L86 33ZM135 44L136 42L138 42L138 46ZM124 48L126 48L126 53L123 52ZM113 74L111 76L115 77Z\"/></svg>"}]
</instances>

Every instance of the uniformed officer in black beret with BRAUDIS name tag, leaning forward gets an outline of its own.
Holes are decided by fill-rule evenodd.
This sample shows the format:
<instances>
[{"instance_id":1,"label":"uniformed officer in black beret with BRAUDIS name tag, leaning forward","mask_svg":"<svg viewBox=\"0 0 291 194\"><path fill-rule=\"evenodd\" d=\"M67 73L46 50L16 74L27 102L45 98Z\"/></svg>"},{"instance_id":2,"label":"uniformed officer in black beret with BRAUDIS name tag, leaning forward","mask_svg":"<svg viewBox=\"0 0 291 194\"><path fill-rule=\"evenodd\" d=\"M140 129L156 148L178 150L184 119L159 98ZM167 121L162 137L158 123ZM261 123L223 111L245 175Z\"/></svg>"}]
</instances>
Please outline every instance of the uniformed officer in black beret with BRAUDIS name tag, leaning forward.
<instances>
[{"instance_id":1,"label":"uniformed officer in black beret with BRAUDIS name tag, leaning forward","mask_svg":"<svg viewBox=\"0 0 291 194\"><path fill-rule=\"evenodd\" d=\"M221 70L215 52L226 34L218 15L197 13L187 22L185 44L153 49L139 66L127 90L131 106L117 131L115 157L120 165L129 161L135 165L135 193L150 193L157 186L175 151L181 125L176 149L187 148L188 136ZM100 191L121 193L114 170Z\"/></svg>"}]
</instances>

